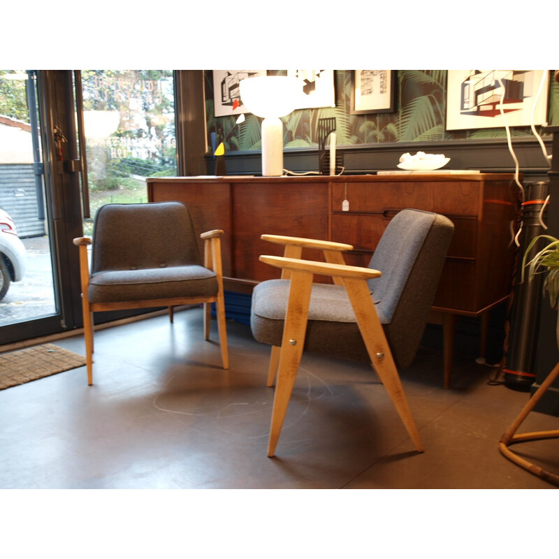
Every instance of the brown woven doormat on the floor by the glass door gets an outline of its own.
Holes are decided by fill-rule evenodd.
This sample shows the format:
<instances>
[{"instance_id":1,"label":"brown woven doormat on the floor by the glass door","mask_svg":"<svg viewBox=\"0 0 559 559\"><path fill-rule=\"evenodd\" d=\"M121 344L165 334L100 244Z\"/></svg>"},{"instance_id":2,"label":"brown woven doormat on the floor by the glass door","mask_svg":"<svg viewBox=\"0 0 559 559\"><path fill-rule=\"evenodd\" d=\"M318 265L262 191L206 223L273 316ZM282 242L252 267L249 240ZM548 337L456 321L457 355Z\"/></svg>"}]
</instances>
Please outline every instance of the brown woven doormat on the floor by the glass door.
<instances>
[{"instance_id":1,"label":"brown woven doormat on the floor by the glass door","mask_svg":"<svg viewBox=\"0 0 559 559\"><path fill-rule=\"evenodd\" d=\"M85 365L85 357L53 344L0 354L0 390Z\"/></svg>"}]
</instances>

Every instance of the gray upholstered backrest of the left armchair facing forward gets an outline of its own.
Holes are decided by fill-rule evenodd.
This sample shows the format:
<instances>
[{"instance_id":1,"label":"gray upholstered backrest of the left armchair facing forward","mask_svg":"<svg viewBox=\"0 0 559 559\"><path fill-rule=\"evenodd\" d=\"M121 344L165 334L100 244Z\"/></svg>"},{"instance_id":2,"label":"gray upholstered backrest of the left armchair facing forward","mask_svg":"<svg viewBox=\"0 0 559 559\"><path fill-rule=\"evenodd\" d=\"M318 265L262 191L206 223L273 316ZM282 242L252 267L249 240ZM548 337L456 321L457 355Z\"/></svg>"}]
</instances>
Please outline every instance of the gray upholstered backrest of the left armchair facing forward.
<instances>
[{"instance_id":1,"label":"gray upholstered backrest of the left armchair facing forward","mask_svg":"<svg viewBox=\"0 0 559 559\"><path fill-rule=\"evenodd\" d=\"M108 204L97 211L92 273L184 264L201 264L201 257L183 203Z\"/></svg>"}]
</instances>

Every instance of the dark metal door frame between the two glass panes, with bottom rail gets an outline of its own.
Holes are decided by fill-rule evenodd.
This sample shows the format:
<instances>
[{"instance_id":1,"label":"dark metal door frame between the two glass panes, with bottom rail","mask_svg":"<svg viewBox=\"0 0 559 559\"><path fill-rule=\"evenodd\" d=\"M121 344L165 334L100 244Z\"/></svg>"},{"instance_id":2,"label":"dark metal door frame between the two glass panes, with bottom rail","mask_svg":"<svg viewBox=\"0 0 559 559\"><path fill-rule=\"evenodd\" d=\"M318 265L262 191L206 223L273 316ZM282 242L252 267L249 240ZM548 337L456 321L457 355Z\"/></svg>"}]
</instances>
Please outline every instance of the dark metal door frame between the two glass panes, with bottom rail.
<instances>
[{"instance_id":1,"label":"dark metal door frame between the two glass panes, with bottom rail","mask_svg":"<svg viewBox=\"0 0 559 559\"><path fill-rule=\"evenodd\" d=\"M49 232L57 313L2 326L1 344L57 334L82 325L78 250L72 242L74 237L82 235L73 72L39 70L29 71L28 75L30 121L41 138L41 147L37 136L34 138L35 171L38 188L42 189L41 174L45 184L44 217ZM38 115L34 114L35 101ZM65 141L57 142L57 138Z\"/></svg>"}]
</instances>

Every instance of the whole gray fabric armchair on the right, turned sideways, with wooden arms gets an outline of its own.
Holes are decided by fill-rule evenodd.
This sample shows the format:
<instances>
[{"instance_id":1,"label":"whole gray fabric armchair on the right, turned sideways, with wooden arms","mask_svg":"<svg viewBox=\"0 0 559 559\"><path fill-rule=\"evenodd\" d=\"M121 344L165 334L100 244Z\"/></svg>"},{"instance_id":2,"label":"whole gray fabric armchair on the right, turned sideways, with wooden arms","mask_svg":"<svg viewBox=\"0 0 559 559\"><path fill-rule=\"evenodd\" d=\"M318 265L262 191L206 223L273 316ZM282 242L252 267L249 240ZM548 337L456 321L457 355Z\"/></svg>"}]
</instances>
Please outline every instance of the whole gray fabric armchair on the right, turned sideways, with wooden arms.
<instances>
[{"instance_id":1,"label":"whole gray fabric armchair on the right, turned sideways, with wooden arms","mask_svg":"<svg viewBox=\"0 0 559 559\"><path fill-rule=\"evenodd\" d=\"M341 252L350 245L263 235L286 245L289 254L260 257L282 268L282 278L261 282L252 296L252 333L273 346L268 456L275 454L303 349L369 361L423 451L396 365L409 366L419 347L452 234L447 217L402 210L386 227L368 268L343 265ZM323 248L326 263L300 260L302 247ZM313 283L314 274L331 275L334 284Z\"/></svg>"}]
</instances>

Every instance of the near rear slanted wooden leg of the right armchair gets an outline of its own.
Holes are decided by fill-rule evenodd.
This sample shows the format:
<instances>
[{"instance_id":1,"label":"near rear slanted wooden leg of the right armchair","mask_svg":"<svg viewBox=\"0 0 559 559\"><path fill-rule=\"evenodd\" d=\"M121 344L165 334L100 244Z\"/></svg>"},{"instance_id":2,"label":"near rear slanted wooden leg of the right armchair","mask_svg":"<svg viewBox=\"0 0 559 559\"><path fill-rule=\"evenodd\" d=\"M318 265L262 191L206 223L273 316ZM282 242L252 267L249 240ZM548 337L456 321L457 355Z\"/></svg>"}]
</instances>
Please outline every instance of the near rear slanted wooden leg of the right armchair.
<instances>
[{"instance_id":1,"label":"near rear slanted wooden leg of the right armchair","mask_svg":"<svg viewBox=\"0 0 559 559\"><path fill-rule=\"evenodd\" d=\"M398 375L398 369L394 363L386 335L384 335L382 324L380 324L375 303L372 302L368 285L363 279L349 278L344 279L344 284L351 305L354 307L357 323L363 342L367 347L372 367L389 393L389 397L417 451L423 452L423 444L421 444L419 438L412 410L409 409L400 375Z\"/></svg>"}]
</instances>

